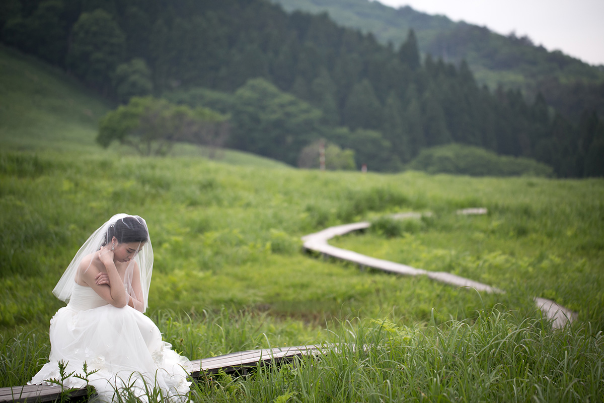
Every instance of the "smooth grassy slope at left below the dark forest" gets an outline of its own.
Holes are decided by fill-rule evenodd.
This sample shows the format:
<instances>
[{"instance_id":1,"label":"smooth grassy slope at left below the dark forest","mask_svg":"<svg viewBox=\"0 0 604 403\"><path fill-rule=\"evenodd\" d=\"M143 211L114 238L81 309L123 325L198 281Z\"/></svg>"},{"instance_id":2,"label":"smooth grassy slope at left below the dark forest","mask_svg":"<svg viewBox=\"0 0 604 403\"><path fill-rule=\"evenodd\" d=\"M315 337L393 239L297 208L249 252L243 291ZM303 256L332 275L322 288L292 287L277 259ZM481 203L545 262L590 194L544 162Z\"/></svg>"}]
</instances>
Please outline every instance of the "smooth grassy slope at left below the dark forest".
<instances>
[{"instance_id":1,"label":"smooth grassy slope at left below the dark forest","mask_svg":"<svg viewBox=\"0 0 604 403\"><path fill-rule=\"evenodd\" d=\"M98 119L114 105L64 71L0 46L0 145L9 150L127 155L127 147L101 148ZM205 156L202 147L177 144L173 156ZM279 161L223 149L228 164L285 169Z\"/></svg>"}]
</instances>

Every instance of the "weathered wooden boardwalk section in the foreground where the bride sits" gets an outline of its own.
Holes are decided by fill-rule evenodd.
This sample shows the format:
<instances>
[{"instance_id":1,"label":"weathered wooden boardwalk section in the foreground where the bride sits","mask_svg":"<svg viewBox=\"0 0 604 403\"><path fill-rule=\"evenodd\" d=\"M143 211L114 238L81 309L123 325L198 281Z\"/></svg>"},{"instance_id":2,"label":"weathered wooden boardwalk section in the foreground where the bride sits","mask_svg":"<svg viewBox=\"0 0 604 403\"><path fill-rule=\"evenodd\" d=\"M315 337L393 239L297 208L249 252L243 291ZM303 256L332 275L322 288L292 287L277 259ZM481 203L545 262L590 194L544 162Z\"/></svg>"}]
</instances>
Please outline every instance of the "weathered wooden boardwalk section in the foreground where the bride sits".
<instances>
[{"instance_id":1,"label":"weathered wooden boardwalk section in the foreground where the bride sits","mask_svg":"<svg viewBox=\"0 0 604 403\"><path fill-rule=\"evenodd\" d=\"M296 346L281 347L274 349L246 350L236 353L219 355L211 358L196 359L191 361L193 379L212 375L223 370L225 373L246 373L259 364L283 364L291 362L294 357L303 355L315 355L321 352L321 347ZM84 399L87 391L85 389L75 390L69 393L70 399ZM60 399L61 388L59 386L47 385L25 385L0 388L0 402L52 402Z\"/></svg>"}]
</instances>

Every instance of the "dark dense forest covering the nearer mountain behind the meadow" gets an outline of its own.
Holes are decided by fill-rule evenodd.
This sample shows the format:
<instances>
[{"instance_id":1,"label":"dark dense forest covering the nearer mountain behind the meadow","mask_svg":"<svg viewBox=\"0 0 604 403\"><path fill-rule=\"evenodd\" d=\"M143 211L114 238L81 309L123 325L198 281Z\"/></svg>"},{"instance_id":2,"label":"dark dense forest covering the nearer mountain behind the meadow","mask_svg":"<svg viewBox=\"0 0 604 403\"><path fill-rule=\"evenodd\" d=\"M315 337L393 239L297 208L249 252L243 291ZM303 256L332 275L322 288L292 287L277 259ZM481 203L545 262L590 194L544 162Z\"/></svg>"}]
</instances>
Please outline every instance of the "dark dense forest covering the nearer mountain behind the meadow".
<instances>
[{"instance_id":1,"label":"dark dense forest covering the nearer mountain behind the meadow","mask_svg":"<svg viewBox=\"0 0 604 403\"><path fill-rule=\"evenodd\" d=\"M403 170L423 149L482 147L559 177L604 174L604 122L542 94L480 86L469 65L420 56L263 0L8 0L2 43L34 54L116 104L153 95L228 116L224 146L298 164L324 139L359 168ZM333 147L332 147L333 149ZM345 166L350 166L344 158Z\"/></svg>"}]
</instances>

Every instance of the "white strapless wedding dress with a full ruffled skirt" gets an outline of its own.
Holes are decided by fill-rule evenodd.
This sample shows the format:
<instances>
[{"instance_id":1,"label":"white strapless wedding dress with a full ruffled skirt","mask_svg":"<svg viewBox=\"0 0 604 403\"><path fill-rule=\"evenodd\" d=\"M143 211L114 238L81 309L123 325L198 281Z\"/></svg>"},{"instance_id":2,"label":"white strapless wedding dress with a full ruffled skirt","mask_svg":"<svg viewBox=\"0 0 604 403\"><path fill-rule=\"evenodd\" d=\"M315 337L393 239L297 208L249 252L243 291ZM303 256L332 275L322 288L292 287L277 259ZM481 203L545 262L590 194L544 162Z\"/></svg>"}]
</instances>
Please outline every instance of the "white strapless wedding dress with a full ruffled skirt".
<instances>
[{"instance_id":1,"label":"white strapless wedding dress with a full ruffled skirt","mask_svg":"<svg viewBox=\"0 0 604 403\"><path fill-rule=\"evenodd\" d=\"M101 401L111 402L124 388L144 398L146 391L161 390L163 400L188 401L191 364L161 339L155 323L136 309L115 308L92 288L75 285L71 299L50 321L50 362L29 384L49 384L58 379L59 361L66 373L84 376L94 386ZM65 387L81 388L86 381L74 375ZM158 388L158 389L157 389Z\"/></svg>"}]
</instances>

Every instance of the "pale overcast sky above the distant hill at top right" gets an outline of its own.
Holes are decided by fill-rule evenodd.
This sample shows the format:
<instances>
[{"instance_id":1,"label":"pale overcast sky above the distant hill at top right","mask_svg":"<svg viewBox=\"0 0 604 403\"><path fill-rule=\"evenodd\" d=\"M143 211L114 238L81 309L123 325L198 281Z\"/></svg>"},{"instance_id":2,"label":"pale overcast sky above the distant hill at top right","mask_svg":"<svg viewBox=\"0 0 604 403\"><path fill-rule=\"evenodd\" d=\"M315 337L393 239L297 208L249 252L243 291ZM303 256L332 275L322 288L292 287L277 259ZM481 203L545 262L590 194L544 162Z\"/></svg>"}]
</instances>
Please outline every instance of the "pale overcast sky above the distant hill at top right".
<instances>
[{"instance_id":1,"label":"pale overcast sky above the distant hill at top right","mask_svg":"<svg viewBox=\"0 0 604 403\"><path fill-rule=\"evenodd\" d=\"M604 65L604 0L377 0L445 15L496 33L528 36L535 45Z\"/></svg>"}]
</instances>

